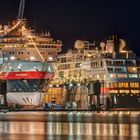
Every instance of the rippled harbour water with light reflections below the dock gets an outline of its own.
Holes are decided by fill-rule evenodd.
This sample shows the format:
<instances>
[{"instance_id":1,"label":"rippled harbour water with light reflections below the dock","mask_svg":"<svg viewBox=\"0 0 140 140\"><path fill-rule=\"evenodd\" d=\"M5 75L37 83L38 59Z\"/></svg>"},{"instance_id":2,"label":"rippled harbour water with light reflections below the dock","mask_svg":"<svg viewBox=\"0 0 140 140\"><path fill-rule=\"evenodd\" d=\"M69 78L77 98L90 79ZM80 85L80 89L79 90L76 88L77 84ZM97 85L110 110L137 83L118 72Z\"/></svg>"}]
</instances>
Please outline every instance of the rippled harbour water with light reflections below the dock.
<instances>
[{"instance_id":1,"label":"rippled harbour water with light reflections below the dock","mask_svg":"<svg viewBox=\"0 0 140 140\"><path fill-rule=\"evenodd\" d=\"M0 140L139 140L139 112L0 113Z\"/></svg>"}]
</instances>

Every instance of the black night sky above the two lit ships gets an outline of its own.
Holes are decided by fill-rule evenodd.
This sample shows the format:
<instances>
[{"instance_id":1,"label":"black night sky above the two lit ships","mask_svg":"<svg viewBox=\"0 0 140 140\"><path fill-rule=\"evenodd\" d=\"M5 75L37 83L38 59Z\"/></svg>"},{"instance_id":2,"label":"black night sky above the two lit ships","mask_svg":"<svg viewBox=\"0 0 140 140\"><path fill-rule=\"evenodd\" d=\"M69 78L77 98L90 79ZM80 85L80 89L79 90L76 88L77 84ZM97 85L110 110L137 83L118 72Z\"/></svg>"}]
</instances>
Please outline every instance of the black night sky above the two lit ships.
<instances>
[{"instance_id":1,"label":"black night sky above the two lit ships","mask_svg":"<svg viewBox=\"0 0 140 140\"><path fill-rule=\"evenodd\" d=\"M0 24L17 17L19 2L0 1ZM24 17L37 32L50 30L65 51L78 39L98 42L116 33L140 55L138 0L26 0Z\"/></svg>"}]
</instances>

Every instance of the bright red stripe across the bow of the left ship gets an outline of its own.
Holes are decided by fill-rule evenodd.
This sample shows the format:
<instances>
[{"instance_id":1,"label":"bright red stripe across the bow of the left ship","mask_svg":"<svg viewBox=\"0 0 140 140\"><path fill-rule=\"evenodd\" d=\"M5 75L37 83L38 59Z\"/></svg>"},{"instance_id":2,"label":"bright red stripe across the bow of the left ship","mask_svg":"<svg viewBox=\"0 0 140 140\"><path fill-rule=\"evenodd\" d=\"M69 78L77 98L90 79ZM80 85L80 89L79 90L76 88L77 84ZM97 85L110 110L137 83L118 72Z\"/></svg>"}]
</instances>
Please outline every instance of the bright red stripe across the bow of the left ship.
<instances>
[{"instance_id":1,"label":"bright red stripe across the bow of the left ship","mask_svg":"<svg viewBox=\"0 0 140 140\"><path fill-rule=\"evenodd\" d=\"M53 73L30 71L30 72L1 72L2 80L19 80L19 79L50 79Z\"/></svg>"}]
</instances>

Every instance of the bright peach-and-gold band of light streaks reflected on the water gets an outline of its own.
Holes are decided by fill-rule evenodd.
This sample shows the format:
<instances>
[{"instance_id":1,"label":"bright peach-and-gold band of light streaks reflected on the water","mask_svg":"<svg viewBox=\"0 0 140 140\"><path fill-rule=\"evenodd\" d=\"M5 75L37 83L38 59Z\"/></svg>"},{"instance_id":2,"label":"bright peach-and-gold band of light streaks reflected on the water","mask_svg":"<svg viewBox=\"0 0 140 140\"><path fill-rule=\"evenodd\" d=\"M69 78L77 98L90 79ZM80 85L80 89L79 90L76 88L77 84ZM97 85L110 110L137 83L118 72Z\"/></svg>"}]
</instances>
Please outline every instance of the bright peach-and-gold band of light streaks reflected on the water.
<instances>
[{"instance_id":1,"label":"bright peach-and-gold band of light streaks reflected on the water","mask_svg":"<svg viewBox=\"0 0 140 140\"><path fill-rule=\"evenodd\" d=\"M139 137L140 128L137 124L106 124L106 123L59 123L59 122L1 122L0 134L42 134L48 137L65 135L70 140L82 139L82 136L119 136Z\"/></svg>"}]
</instances>

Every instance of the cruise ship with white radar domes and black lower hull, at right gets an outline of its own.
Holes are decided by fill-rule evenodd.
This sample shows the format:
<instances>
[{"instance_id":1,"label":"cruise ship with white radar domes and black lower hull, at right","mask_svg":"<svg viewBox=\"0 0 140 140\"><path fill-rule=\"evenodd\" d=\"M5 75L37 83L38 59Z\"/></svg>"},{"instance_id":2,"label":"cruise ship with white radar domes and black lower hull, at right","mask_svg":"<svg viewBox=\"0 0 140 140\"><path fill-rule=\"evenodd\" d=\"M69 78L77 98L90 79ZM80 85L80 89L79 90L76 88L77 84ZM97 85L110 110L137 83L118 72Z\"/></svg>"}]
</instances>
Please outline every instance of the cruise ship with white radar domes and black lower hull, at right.
<instances>
[{"instance_id":1,"label":"cruise ship with white radar domes and black lower hull, at right","mask_svg":"<svg viewBox=\"0 0 140 140\"><path fill-rule=\"evenodd\" d=\"M81 109L97 105L94 83L101 83L99 103L118 108L140 107L140 68L136 54L118 35L98 43L77 40L74 49L58 56L52 85L66 87L71 101ZM78 105L79 106L79 105Z\"/></svg>"}]
</instances>

